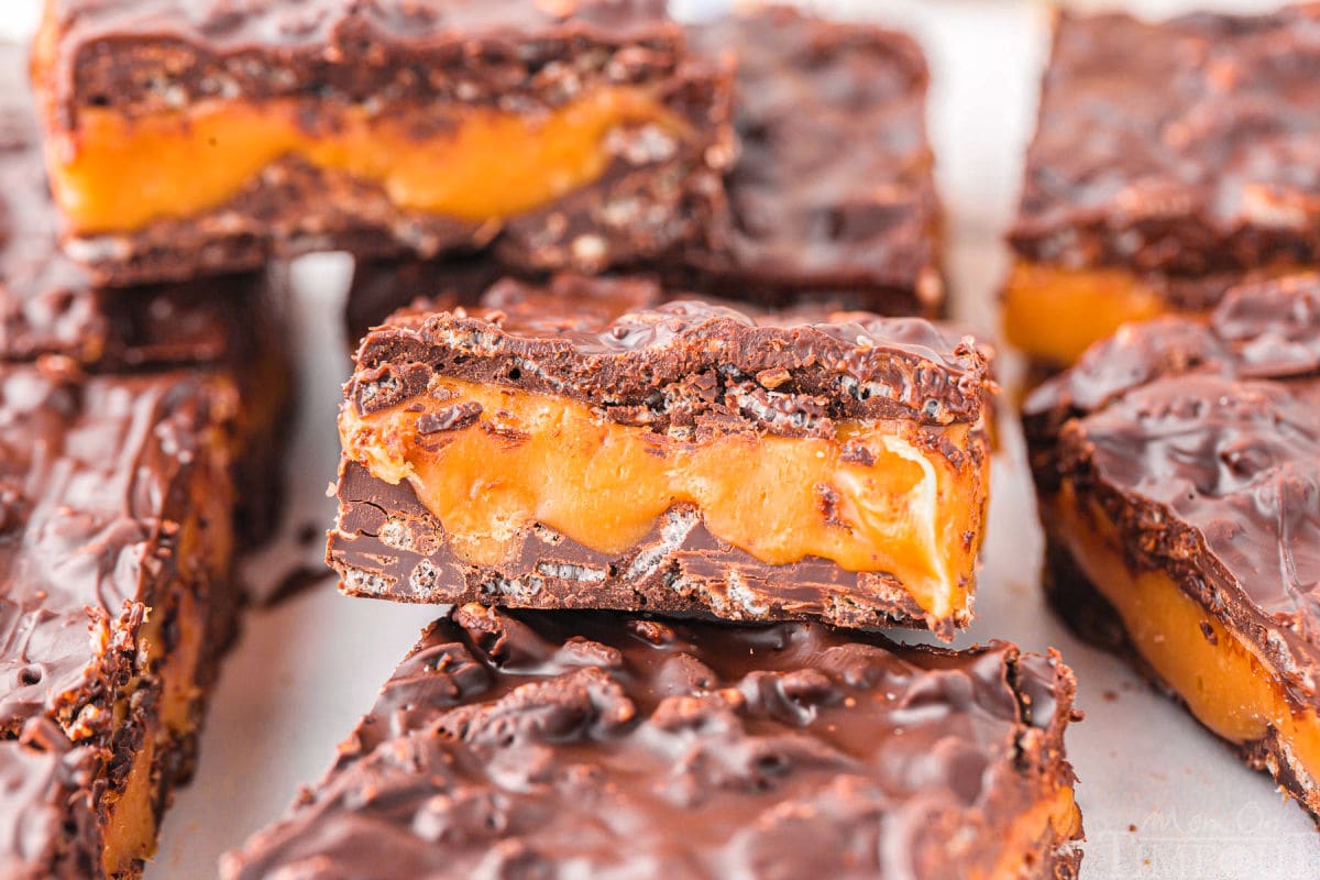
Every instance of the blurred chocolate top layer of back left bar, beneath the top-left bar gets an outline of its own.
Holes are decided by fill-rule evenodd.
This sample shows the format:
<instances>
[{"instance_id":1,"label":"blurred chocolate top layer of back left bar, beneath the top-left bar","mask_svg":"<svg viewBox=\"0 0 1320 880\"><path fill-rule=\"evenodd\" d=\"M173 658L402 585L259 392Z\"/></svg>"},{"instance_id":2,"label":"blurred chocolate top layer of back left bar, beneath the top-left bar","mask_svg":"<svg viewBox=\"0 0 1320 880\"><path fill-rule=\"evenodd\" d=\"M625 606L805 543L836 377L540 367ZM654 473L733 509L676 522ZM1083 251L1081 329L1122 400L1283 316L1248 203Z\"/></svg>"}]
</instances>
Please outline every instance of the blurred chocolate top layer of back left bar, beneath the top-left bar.
<instances>
[{"instance_id":1,"label":"blurred chocolate top layer of back left bar, beneath the top-left bar","mask_svg":"<svg viewBox=\"0 0 1320 880\"><path fill-rule=\"evenodd\" d=\"M65 257L25 66L20 46L0 42L0 361L66 355L124 369L247 350L261 274L106 290Z\"/></svg>"}]
</instances>

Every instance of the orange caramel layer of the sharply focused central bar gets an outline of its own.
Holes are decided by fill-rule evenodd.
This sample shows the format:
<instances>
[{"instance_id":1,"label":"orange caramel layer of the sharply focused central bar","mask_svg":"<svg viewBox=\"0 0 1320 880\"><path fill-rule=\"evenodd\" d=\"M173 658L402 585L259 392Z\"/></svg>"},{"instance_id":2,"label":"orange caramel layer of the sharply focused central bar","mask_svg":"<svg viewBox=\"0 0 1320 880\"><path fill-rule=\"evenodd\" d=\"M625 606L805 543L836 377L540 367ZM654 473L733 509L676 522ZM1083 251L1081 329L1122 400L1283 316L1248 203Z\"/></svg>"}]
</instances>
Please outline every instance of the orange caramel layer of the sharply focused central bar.
<instances>
[{"instance_id":1,"label":"orange caramel layer of the sharply focused central bar","mask_svg":"<svg viewBox=\"0 0 1320 880\"><path fill-rule=\"evenodd\" d=\"M480 418L418 434L424 414L459 402L478 404ZM562 397L445 377L392 409L345 406L339 421L348 455L378 479L408 480L473 565L507 562L533 524L622 554L673 505L692 504L711 534L762 562L821 557L884 571L942 616L966 607L989 464L960 472L915 445L915 430L838 424L833 438L738 433L693 443ZM944 429L961 449L972 430Z\"/></svg>"}]
</instances>

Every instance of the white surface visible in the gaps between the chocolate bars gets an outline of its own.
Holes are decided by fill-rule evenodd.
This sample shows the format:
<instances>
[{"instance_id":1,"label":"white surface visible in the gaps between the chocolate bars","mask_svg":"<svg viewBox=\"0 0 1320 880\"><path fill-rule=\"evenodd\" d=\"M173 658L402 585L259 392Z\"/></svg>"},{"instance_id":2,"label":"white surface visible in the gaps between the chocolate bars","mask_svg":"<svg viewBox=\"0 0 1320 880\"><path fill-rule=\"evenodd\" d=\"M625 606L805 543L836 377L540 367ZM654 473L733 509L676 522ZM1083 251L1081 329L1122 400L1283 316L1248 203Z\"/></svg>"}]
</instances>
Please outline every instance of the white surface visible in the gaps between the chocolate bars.
<instances>
[{"instance_id":1,"label":"white surface visible in the gaps between the chocolate bars","mask_svg":"<svg viewBox=\"0 0 1320 880\"><path fill-rule=\"evenodd\" d=\"M13 4L13 7L11 7ZM0 4L0 29L21 28L37 5ZM701 0L685 0L700 8ZM1035 115L1048 13L1023 0L854 0L814 4L909 28L924 44L935 83L931 132L949 210L949 267L957 309L993 329L993 292L1006 267L999 236L1020 179L1022 146ZM1102 4L1085 4L1097 7ZM1104 4L1115 5L1115 4ZM1130 3L1151 15L1180 1ZM1251 9L1272 4L1217 3ZM847 149L841 144L841 149ZM325 497L337 460L334 412L346 372L338 303L347 263L298 267L302 319L293 344L305 388L293 476L290 530L327 526ZM1086 880L1320 879L1320 834L1265 776L1241 767L1216 740L1152 694L1114 658L1069 636L1040 602L1041 540L1012 426L995 462L994 501L978 619L961 641L1012 639L1063 650L1077 670L1088 718L1069 735L1081 777ZM312 563L319 541L286 542L248 567L277 581L297 553ZM425 608L341 598L327 581L272 611L253 612L214 694L191 788L169 813L148 880L211 877L219 854L279 817L300 785L314 782L335 744L430 619Z\"/></svg>"}]
</instances>

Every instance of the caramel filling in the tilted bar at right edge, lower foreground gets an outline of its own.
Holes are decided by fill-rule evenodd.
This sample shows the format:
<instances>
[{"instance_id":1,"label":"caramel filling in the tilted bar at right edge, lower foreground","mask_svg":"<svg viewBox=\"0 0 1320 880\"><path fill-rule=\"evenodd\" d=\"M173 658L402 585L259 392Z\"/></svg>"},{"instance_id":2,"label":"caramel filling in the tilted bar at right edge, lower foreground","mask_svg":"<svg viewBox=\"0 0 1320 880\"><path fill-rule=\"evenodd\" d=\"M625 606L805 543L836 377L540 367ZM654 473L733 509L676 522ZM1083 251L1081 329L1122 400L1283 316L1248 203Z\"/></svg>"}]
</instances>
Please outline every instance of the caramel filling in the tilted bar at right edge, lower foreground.
<instances>
[{"instance_id":1,"label":"caramel filling in the tilted bar at right edge, lower foreground","mask_svg":"<svg viewBox=\"0 0 1320 880\"><path fill-rule=\"evenodd\" d=\"M1052 505L1055 534L1122 617L1127 637L1197 719L1233 743L1271 728L1311 776L1320 778L1320 716L1288 702L1250 643L1229 631L1163 571L1134 571L1102 511L1088 516L1065 484Z\"/></svg>"}]
</instances>

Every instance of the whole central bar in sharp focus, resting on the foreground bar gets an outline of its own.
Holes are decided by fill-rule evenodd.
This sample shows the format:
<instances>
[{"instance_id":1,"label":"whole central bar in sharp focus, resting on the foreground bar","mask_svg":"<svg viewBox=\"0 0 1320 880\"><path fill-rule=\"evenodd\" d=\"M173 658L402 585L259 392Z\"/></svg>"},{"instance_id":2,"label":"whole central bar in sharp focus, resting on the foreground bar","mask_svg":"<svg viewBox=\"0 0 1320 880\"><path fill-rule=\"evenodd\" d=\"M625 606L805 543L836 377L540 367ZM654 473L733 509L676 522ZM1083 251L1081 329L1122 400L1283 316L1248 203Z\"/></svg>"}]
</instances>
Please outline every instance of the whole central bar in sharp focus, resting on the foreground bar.
<instances>
[{"instance_id":1,"label":"whole central bar in sharp focus, resting on the foreground bar","mask_svg":"<svg viewBox=\"0 0 1320 880\"><path fill-rule=\"evenodd\" d=\"M668 296L502 281L372 331L339 417L343 588L965 625L987 355L919 318Z\"/></svg>"}]
</instances>

